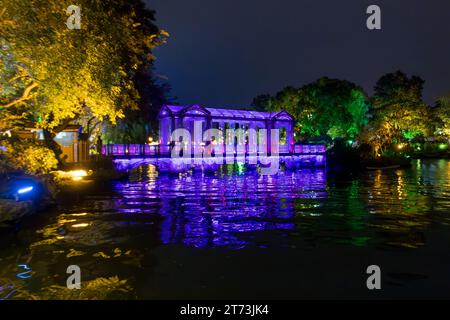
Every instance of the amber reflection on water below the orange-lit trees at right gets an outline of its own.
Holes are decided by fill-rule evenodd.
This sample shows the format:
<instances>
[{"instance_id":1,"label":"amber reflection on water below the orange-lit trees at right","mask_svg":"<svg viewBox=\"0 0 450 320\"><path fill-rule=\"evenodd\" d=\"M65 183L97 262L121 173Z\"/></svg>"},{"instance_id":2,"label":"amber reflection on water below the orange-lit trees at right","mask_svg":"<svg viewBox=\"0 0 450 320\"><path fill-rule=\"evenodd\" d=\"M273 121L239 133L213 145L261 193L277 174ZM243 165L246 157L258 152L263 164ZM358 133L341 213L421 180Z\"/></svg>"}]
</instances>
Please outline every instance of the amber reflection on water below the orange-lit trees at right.
<instances>
[{"instance_id":1,"label":"amber reflection on water below the orange-lit trees at right","mask_svg":"<svg viewBox=\"0 0 450 320\"><path fill-rule=\"evenodd\" d=\"M424 183L429 174L420 165L414 170L368 174L363 200L371 213L370 226L386 244L413 248L424 244L433 208L433 198L426 196L433 185Z\"/></svg>"}]
</instances>

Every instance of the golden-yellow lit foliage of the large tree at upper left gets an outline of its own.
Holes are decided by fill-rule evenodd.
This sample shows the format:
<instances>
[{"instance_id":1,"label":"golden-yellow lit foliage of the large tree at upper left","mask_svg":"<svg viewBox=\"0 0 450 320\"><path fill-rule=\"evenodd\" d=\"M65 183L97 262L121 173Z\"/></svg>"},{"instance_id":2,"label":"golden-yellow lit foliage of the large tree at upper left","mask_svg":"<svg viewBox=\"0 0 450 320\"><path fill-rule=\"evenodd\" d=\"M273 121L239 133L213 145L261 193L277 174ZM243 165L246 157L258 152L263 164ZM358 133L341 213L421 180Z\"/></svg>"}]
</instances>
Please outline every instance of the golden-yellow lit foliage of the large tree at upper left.
<instances>
[{"instance_id":1,"label":"golden-yellow lit foliage of the large tree at upper left","mask_svg":"<svg viewBox=\"0 0 450 320\"><path fill-rule=\"evenodd\" d=\"M80 0L79 30L65 24L71 1L2 3L3 127L19 117L59 131L87 110L114 123L137 107L135 74L167 36L141 1Z\"/></svg>"}]
</instances>

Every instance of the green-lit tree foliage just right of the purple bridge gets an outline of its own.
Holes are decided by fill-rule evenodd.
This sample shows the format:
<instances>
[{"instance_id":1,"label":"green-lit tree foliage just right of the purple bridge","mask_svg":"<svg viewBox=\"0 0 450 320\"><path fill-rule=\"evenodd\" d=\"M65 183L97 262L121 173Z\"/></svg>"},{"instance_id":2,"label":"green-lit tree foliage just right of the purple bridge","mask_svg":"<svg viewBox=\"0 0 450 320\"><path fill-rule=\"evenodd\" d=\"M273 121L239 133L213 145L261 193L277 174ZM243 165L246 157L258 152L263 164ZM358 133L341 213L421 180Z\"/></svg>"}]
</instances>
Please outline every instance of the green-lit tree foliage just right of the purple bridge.
<instances>
[{"instance_id":1,"label":"green-lit tree foliage just right of the purple bridge","mask_svg":"<svg viewBox=\"0 0 450 320\"><path fill-rule=\"evenodd\" d=\"M362 88L345 80L321 78L299 89L286 87L275 97L261 95L253 105L286 110L296 119L300 137L354 138L365 124L368 99Z\"/></svg>"}]
</instances>

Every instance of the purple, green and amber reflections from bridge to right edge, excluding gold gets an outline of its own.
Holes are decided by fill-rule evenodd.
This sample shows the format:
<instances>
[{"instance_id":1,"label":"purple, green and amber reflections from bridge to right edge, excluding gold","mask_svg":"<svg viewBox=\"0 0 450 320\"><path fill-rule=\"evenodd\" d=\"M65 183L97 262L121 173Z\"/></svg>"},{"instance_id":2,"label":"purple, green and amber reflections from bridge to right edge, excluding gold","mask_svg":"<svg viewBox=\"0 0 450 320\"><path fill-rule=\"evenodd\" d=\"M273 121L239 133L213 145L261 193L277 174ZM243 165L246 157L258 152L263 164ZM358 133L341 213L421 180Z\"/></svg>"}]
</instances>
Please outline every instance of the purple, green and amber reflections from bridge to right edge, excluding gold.
<instances>
[{"instance_id":1,"label":"purple, green and amber reflections from bridge to right edge, excluding gold","mask_svg":"<svg viewBox=\"0 0 450 320\"><path fill-rule=\"evenodd\" d=\"M276 231L273 239L288 239L277 246L298 237L311 245L417 248L434 220L447 224L449 168L448 160L418 160L412 169L336 178L321 169L260 176L224 166L216 175L174 177L148 166L116 186L117 208L160 218L163 244L242 248Z\"/></svg>"}]
</instances>

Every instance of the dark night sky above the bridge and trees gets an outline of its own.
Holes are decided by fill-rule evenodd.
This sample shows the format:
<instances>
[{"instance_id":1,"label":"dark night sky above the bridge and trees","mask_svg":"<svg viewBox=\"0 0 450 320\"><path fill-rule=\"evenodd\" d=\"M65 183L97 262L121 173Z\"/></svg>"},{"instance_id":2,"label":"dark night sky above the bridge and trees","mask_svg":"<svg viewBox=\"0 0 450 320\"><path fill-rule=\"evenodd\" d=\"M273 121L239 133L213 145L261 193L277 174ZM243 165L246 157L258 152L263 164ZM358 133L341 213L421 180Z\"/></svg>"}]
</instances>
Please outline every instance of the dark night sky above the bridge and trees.
<instances>
[{"instance_id":1,"label":"dark night sky above the bridge and trees","mask_svg":"<svg viewBox=\"0 0 450 320\"><path fill-rule=\"evenodd\" d=\"M398 69L426 80L431 103L450 92L449 0L146 0L169 42L157 71L182 104L248 106L258 94L319 77L369 94ZM366 9L382 10L382 30Z\"/></svg>"}]
</instances>

